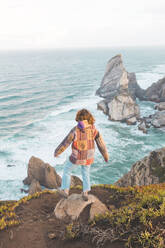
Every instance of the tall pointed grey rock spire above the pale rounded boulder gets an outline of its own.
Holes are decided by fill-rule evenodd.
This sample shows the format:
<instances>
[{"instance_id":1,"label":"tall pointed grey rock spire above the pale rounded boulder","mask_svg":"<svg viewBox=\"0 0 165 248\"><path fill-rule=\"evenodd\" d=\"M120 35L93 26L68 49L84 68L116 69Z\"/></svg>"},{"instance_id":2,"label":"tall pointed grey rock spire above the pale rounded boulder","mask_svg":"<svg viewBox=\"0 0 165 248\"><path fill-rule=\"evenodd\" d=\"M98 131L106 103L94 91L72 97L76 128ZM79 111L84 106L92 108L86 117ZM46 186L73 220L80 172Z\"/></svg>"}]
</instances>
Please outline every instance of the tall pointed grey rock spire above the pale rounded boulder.
<instances>
[{"instance_id":1,"label":"tall pointed grey rock spire above the pale rounded boulder","mask_svg":"<svg viewBox=\"0 0 165 248\"><path fill-rule=\"evenodd\" d=\"M96 94L111 100L123 89L127 89L133 99L143 96L143 90L137 84L135 73L128 73L125 70L122 56L119 54L108 61L101 86Z\"/></svg>"}]
</instances>

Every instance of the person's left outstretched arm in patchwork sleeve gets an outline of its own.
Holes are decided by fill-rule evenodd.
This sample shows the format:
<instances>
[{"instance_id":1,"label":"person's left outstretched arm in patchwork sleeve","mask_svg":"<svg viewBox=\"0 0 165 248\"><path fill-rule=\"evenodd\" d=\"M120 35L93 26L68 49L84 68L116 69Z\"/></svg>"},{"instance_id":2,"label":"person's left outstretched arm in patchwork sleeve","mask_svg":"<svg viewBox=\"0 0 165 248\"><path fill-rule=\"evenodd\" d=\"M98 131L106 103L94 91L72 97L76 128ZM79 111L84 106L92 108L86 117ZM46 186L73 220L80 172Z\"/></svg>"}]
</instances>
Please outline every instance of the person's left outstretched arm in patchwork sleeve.
<instances>
[{"instance_id":1,"label":"person's left outstretched arm in patchwork sleeve","mask_svg":"<svg viewBox=\"0 0 165 248\"><path fill-rule=\"evenodd\" d=\"M59 156L62 152L64 152L66 150L66 148L68 148L68 146L72 143L73 139L74 139L74 132L75 132L75 128L73 128L69 134L65 137L65 139L61 142L61 144L56 148L55 152L54 152L54 157Z\"/></svg>"}]
</instances>

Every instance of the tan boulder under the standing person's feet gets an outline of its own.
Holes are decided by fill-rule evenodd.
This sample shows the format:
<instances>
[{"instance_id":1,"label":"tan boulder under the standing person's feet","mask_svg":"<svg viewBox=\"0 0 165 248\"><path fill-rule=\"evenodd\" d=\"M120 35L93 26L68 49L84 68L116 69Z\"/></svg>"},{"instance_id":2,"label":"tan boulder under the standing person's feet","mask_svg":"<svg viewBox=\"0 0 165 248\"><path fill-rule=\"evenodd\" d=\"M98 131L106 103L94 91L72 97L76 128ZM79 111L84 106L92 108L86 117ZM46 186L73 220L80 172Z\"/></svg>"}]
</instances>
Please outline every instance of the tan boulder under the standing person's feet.
<instances>
[{"instance_id":1,"label":"tan boulder under the standing person's feet","mask_svg":"<svg viewBox=\"0 0 165 248\"><path fill-rule=\"evenodd\" d=\"M60 220L65 220L65 218L76 220L87 206L90 207L90 219L93 219L97 214L103 214L108 211L105 204L94 195L88 195L88 201L84 201L81 194L71 194L67 199L61 199L57 203L54 214Z\"/></svg>"}]
</instances>

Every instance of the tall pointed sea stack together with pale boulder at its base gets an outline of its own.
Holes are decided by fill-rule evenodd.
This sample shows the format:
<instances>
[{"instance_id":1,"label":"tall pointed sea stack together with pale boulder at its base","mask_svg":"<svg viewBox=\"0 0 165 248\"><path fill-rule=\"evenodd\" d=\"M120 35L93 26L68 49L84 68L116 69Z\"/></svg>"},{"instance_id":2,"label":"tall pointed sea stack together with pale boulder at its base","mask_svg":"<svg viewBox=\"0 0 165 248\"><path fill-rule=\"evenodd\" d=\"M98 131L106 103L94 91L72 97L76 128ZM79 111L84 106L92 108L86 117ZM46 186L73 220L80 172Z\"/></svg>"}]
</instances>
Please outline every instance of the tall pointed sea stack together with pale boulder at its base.
<instances>
[{"instance_id":1,"label":"tall pointed sea stack together with pale boulder at its base","mask_svg":"<svg viewBox=\"0 0 165 248\"><path fill-rule=\"evenodd\" d=\"M135 124L140 110L136 97L143 98L144 90L137 84L135 73L128 73L121 55L113 57L107 64L106 72L96 94L105 98L98 103L110 120Z\"/></svg>"}]
</instances>

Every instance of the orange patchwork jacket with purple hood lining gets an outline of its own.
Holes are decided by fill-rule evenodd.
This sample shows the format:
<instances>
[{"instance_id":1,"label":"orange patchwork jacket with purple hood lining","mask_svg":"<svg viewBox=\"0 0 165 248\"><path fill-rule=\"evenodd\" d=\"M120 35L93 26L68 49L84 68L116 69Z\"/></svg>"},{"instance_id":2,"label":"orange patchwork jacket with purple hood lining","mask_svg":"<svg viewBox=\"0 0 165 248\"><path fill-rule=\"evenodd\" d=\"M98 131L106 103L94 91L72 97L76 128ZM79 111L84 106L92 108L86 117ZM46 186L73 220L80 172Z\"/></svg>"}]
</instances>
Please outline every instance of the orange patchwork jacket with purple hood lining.
<instances>
[{"instance_id":1,"label":"orange patchwork jacket with purple hood lining","mask_svg":"<svg viewBox=\"0 0 165 248\"><path fill-rule=\"evenodd\" d=\"M60 155L72 143L70 161L73 164L90 165L94 161L95 142L107 162L109 156L102 136L87 120L80 121L56 148L54 155Z\"/></svg>"}]
</instances>

